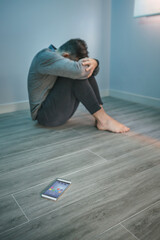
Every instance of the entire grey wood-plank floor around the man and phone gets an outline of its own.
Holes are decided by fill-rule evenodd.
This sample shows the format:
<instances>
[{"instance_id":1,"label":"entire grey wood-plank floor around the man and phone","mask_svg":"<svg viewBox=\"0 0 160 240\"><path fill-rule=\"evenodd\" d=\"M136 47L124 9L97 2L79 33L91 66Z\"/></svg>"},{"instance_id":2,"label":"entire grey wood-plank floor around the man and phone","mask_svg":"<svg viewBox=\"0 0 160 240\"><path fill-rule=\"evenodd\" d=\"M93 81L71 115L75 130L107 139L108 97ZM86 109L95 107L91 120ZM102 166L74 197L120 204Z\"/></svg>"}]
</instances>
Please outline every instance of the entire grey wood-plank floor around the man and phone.
<instances>
[{"instance_id":1,"label":"entire grey wood-plank floor around the man and phone","mask_svg":"<svg viewBox=\"0 0 160 240\"><path fill-rule=\"evenodd\" d=\"M160 240L160 110L103 100L129 133L98 131L83 107L57 128L0 115L1 240ZM58 177L71 187L41 198Z\"/></svg>"}]
</instances>

